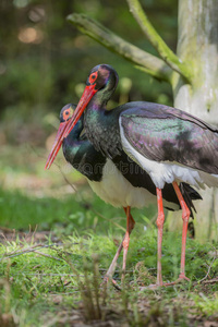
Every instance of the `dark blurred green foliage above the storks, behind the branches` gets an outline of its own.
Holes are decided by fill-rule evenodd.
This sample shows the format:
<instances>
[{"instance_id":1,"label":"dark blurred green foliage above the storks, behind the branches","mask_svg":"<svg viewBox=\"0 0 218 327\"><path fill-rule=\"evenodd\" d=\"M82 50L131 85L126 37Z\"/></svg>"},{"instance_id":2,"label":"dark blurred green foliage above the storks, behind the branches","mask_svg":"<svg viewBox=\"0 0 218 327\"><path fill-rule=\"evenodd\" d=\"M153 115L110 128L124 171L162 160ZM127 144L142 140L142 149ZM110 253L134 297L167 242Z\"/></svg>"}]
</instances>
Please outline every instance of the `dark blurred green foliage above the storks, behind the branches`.
<instances>
[{"instance_id":1,"label":"dark blurred green foliage above the storks, behind the branches","mask_svg":"<svg viewBox=\"0 0 218 327\"><path fill-rule=\"evenodd\" d=\"M165 24L165 28L160 28L164 37L174 44L175 2L166 1L160 8L154 1L145 5L154 21L154 10L159 12L157 22ZM59 112L66 102L77 100L76 85L85 81L95 64L101 62L114 65L121 78L131 78L131 100L155 101L165 94L166 104L171 104L171 90L167 84L150 82L150 77L78 34L65 21L72 12L88 12L126 40L155 53L144 35L138 33L124 0L119 3L114 0L108 3L64 0L50 4L45 1L3 1L0 8L0 113L19 112L14 119L20 116L22 120L32 120L32 112L36 117L38 108ZM118 90L117 102L121 95Z\"/></svg>"}]
</instances>

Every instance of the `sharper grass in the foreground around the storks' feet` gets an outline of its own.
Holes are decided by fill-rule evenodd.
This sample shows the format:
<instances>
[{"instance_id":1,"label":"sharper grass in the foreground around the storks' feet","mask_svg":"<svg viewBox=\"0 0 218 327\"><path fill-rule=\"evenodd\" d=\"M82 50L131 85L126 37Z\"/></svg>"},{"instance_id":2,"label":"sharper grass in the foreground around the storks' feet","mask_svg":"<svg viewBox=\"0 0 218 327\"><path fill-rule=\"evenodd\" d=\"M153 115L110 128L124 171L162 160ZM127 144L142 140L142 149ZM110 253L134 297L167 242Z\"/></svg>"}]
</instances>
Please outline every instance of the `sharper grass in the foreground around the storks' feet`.
<instances>
[{"instance_id":1,"label":"sharper grass in the foreground around the storks' feet","mask_svg":"<svg viewBox=\"0 0 218 327\"><path fill-rule=\"evenodd\" d=\"M99 225L100 229L101 222ZM203 246L196 241L189 240L186 274L192 280L191 284L187 282L142 292L140 286L155 282L157 239L155 227L143 232L141 223L138 225L131 235L126 289L124 288L121 293L117 293L111 286L105 291L99 288L100 275L105 274L116 252L114 234L105 234L102 231L101 234L84 232L81 227L77 231L80 233L82 231L83 237L74 232L71 237L62 237L62 242L58 244L53 244L52 239L46 244L36 244L33 240L29 242L20 238L2 243L1 315L7 314L8 319L22 327L47 326L48 319L51 319L49 326L57 326L58 322L60 326L61 324L66 326L64 324L70 323L72 312L80 316L80 320L86 323L96 319L116 319L121 324L124 319L128 326L146 326L145 324L154 319L161 320L168 326L174 324L189 326L192 315L193 320L196 319L196 315L201 316L201 313L204 313L205 317L216 317L217 286L211 286L210 291L204 289L205 295L202 293L196 295L196 291L201 291L201 286L193 281L206 275L205 264L211 261L208 255L211 246L209 247L209 244ZM175 238L165 233L162 261L165 280L174 280L178 277L178 268L174 276L170 270L173 270L173 265L179 266L175 252L178 255L180 241L181 235ZM120 257L114 275L118 283L120 283L121 262ZM210 278L216 276L216 270L217 265L213 265ZM210 294L214 292L214 298L206 295L206 292ZM61 318L63 312L64 323ZM189 317L184 312L189 313Z\"/></svg>"}]
</instances>

